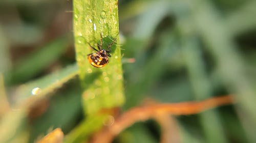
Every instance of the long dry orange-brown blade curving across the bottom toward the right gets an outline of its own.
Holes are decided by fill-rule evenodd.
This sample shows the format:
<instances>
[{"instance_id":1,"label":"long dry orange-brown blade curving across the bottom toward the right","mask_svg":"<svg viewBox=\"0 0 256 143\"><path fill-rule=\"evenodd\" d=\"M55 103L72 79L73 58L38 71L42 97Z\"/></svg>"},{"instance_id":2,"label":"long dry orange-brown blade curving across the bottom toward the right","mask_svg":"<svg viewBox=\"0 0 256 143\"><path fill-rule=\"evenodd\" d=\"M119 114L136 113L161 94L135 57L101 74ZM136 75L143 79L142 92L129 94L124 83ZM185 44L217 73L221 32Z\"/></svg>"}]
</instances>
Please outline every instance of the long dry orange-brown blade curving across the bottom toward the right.
<instances>
[{"instance_id":1,"label":"long dry orange-brown blade curving across the bottom toward the right","mask_svg":"<svg viewBox=\"0 0 256 143\"><path fill-rule=\"evenodd\" d=\"M199 102L158 103L132 108L116 118L112 126L107 126L97 132L91 143L111 142L125 128L135 122L154 118L156 115L191 115L204 110L234 103L232 96L222 96L206 99Z\"/></svg>"}]
</instances>

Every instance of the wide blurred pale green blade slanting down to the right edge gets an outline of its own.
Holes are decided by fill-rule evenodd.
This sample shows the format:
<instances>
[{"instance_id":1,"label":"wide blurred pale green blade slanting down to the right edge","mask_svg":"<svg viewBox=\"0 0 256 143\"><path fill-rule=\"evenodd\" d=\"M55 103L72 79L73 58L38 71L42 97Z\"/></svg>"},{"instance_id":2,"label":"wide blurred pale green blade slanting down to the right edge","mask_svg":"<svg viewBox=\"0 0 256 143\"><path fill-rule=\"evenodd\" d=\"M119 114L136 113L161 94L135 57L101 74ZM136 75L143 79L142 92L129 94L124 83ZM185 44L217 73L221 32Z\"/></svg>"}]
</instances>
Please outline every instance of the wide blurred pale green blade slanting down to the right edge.
<instances>
[{"instance_id":1,"label":"wide blurred pale green blade slanting down to the right edge","mask_svg":"<svg viewBox=\"0 0 256 143\"><path fill-rule=\"evenodd\" d=\"M197 7L199 4L200 7ZM191 8L193 19L208 50L216 60L222 80L240 103L236 107L248 140L254 142L256 140L254 135L256 129L255 90L246 75L244 61L236 50L237 46L232 41L232 35L211 4L198 0L191 3Z\"/></svg>"}]
</instances>

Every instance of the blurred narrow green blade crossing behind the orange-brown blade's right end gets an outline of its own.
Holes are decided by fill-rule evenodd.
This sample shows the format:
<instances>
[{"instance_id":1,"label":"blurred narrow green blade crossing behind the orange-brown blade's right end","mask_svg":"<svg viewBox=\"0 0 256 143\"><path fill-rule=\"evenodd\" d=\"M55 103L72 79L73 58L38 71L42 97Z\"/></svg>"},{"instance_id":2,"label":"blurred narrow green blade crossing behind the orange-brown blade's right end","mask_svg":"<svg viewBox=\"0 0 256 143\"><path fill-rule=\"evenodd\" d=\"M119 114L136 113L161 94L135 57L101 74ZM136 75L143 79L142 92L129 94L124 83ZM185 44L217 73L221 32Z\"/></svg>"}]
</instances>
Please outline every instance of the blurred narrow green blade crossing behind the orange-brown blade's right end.
<instances>
[{"instance_id":1,"label":"blurred narrow green blade crossing behind the orange-brown blade's right end","mask_svg":"<svg viewBox=\"0 0 256 143\"><path fill-rule=\"evenodd\" d=\"M183 37L186 36L183 35ZM184 43L182 49L195 99L210 98L212 88L205 73L205 63L201 57L198 39L187 36L187 38L182 39L182 43ZM199 115L199 119L204 130L206 142L227 142L217 110L203 112Z\"/></svg>"}]
</instances>

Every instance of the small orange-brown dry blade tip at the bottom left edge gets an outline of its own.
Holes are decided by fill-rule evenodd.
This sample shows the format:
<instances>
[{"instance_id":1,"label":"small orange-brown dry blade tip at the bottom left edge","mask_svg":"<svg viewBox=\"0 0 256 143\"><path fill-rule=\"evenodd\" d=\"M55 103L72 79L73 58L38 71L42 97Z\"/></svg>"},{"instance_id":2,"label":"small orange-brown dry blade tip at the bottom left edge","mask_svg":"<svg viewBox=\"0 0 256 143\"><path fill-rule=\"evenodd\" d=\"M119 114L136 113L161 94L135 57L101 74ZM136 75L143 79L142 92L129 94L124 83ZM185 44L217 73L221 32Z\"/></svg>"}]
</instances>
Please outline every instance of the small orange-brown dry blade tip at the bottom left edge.
<instances>
[{"instance_id":1,"label":"small orange-brown dry blade tip at the bottom left edge","mask_svg":"<svg viewBox=\"0 0 256 143\"><path fill-rule=\"evenodd\" d=\"M62 143L64 134L60 128L57 128L41 138L37 143Z\"/></svg>"}]
</instances>

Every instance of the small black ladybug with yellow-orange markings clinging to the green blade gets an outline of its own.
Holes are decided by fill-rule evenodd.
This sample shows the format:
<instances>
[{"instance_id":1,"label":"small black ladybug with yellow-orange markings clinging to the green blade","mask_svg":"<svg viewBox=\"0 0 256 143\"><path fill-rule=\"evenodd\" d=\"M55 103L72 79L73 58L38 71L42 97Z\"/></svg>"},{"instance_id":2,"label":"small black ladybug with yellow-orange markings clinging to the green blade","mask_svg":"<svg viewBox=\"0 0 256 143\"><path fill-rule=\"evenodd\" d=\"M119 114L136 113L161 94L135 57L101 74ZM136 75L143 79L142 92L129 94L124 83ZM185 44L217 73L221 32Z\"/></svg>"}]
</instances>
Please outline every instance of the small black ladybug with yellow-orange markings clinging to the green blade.
<instances>
[{"instance_id":1,"label":"small black ladybug with yellow-orange markings clinging to the green blade","mask_svg":"<svg viewBox=\"0 0 256 143\"><path fill-rule=\"evenodd\" d=\"M96 50L96 53L90 53L88 54L88 61L91 65L93 65L96 68L102 68L106 64L109 63L109 57L111 57L110 52L111 52L111 46L114 44L115 40L111 44L108 45L108 48L102 49L102 35L100 33L100 44L97 43L98 45L98 50L94 48L93 46L90 45L90 47L94 50Z\"/></svg>"}]
</instances>

